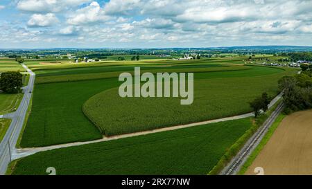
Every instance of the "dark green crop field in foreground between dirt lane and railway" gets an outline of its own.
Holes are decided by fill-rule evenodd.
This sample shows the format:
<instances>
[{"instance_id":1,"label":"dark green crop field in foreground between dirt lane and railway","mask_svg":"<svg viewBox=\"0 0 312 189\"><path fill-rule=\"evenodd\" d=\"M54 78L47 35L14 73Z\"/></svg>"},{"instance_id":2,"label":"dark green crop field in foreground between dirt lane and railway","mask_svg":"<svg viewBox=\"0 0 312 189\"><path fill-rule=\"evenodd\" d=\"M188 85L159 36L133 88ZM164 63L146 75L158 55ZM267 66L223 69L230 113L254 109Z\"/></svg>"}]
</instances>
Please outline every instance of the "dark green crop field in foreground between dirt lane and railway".
<instances>
[{"instance_id":1,"label":"dark green crop field in foreground between dirt lane and railway","mask_svg":"<svg viewBox=\"0 0 312 189\"><path fill-rule=\"evenodd\" d=\"M250 127L250 118L40 152L12 174L207 174Z\"/></svg>"}]
</instances>

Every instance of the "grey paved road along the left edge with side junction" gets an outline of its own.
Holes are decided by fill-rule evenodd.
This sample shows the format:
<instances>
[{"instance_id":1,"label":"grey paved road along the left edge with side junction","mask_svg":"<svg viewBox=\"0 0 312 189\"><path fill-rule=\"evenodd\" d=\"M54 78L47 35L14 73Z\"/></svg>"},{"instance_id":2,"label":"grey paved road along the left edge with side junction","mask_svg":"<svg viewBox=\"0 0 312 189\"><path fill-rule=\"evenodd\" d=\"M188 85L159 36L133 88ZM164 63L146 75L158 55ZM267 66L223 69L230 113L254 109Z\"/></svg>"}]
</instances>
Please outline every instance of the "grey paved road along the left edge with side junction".
<instances>
[{"instance_id":1,"label":"grey paved road along the left edge with side junction","mask_svg":"<svg viewBox=\"0 0 312 189\"><path fill-rule=\"evenodd\" d=\"M6 174L6 169L8 168L8 163L10 163L11 154L15 152L15 145L19 138L19 134L24 124L26 112L28 109L29 102L31 100L33 84L35 82L35 73L28 69L24 64L21 64L26 71L30 74L28 86L24 87L24 97L21 100L17 111L3 115L3 118L10 118L12 120L6 136L0 143L0 175Z\"/></svg>"}]
</instances>

